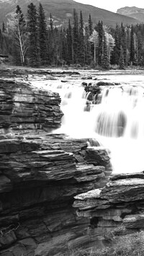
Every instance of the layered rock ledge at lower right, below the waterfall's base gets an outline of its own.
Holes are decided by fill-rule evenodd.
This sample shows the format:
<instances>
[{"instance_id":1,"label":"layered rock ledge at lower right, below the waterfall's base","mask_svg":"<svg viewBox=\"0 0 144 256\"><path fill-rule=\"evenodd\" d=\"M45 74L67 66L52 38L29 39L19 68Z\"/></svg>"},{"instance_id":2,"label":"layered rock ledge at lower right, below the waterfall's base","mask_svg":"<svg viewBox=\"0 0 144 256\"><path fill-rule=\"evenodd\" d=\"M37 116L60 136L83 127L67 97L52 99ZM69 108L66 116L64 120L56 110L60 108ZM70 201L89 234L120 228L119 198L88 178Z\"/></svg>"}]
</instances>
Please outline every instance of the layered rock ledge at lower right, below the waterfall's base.
<instances>
[{"instance_id":1,"label":"layered rock ledge at lower right, below the waterfall's base","mask_svg":"<svg viewBox=\"0 0 144 256\"><path fill-rule=\"evenodd\" d=\"M105 237L130 234L144 228L144 174L115 175L102 189L76 195L78 216L89 217L91 234ZM102 239L102 237L101 237Z\"/></svg>"}]
</instances>

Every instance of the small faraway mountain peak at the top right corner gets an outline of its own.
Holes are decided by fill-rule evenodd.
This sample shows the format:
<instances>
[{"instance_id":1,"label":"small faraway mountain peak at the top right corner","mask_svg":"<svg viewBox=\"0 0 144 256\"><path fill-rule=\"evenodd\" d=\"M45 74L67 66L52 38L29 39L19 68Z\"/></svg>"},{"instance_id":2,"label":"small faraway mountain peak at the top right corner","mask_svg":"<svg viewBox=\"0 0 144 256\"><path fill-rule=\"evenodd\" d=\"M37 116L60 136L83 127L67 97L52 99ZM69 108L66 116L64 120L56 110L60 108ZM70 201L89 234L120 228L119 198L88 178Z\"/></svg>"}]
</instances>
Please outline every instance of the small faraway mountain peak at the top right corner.
<instances>
[{"instance_id":1,"label":"small faraway mountain peak at the top right corner","mask_svg":"<svg viewBox=\"0 0 144 256\"><path fill-rule=\"evenodd\" d=\"M134 19L138 19L139 22L144 22L144 9L135 6L132 7L122 7L117 10L117 14L126 15Z\"/></svg>"}]
</instances>

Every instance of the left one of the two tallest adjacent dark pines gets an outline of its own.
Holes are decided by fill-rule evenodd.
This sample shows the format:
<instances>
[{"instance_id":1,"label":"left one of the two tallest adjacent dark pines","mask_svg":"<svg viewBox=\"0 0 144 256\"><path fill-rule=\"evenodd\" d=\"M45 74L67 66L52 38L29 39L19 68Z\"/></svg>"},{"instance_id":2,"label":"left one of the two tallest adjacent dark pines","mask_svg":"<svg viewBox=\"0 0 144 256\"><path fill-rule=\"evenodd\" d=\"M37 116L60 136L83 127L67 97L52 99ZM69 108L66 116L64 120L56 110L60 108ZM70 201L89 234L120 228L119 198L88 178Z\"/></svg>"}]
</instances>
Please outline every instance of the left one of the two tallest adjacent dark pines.
<instances>
[{"instance_id":1,"label":"left one of the two tallest adjacent dark pines","mask_svg":"<svg viewBox=\"0 0 144 256\"><path fill-rule=\"evenodd\" d=\"M40 66L40 45L38 39L37 9L34 4L28 5L27 27L29 32L29 61L31 66Z\"/></svg>"}]
</instances>

